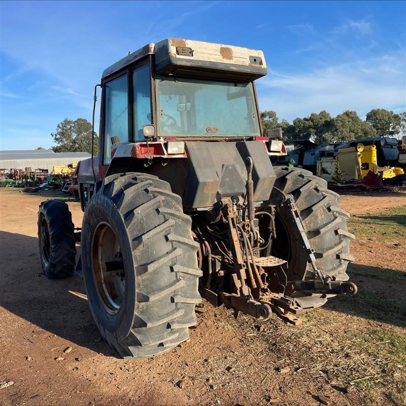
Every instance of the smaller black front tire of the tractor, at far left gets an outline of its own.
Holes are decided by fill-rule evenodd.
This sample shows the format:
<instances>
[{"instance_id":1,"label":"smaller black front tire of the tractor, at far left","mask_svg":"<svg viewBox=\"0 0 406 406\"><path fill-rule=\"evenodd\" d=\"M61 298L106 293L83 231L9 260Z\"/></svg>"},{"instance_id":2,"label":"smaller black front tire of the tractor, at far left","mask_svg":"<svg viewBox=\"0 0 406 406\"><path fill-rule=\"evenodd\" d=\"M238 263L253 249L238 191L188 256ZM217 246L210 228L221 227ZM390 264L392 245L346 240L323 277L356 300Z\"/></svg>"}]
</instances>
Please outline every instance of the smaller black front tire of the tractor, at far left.
<instances>
[{"instance_id":1,"label":"smaller black front tire of the tractor, at far left","mask_svg":"<svg viewBox=\"0 0 406 406\"><path fill-rule=\"evenodd\" d=\"M43 201L38 210L38 245L44 274L49 279L75 271L75 230L69 207L62 200Z\"/></svg>"}]
</instances>

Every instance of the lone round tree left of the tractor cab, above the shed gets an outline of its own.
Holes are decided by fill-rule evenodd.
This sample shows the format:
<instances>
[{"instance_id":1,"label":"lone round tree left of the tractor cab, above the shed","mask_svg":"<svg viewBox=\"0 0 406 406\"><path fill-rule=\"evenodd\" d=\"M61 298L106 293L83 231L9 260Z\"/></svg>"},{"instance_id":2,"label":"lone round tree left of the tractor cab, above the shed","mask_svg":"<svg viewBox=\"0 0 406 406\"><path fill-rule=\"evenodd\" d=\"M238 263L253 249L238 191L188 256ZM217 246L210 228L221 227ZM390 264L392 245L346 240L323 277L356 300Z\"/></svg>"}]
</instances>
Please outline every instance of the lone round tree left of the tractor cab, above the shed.
<instances>
[{"instance_id":1,"label":"lone round tree left of the tractor cab, above the shed","mask_svg":"<svg viewBox=\"0 0 406 406\"><path fill-rule=\"evenodd\" d=\"M84 118L62 120L51 133L56 144L54 152L89 152L92 145L92 125ZM98 154L98 136L94 133L94 155Z\"/></svg>"}]
</instances>

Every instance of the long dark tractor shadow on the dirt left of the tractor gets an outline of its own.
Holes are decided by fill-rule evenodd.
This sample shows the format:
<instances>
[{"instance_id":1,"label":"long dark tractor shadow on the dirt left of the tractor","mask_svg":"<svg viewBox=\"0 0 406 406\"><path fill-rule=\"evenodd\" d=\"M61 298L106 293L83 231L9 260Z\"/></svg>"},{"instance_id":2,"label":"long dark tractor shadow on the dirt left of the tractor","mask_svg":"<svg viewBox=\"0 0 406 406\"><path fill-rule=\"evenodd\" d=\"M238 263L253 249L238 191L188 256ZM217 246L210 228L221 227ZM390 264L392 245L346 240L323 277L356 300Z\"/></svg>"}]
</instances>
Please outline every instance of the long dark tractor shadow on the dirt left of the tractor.
<instances>
[{"instance_id":1,"label":"long dark tractor shadow on the dirt left of the tractor","mask_svg":"<svg viewBox=\"0 0 406 406\"><path fill-rule=\"evenodd\" d=\"M101 340L80 277L47 279L37 238L0 231L0 247L1 307L77 345L117 355Z\"/></svg>"}]
</instances>

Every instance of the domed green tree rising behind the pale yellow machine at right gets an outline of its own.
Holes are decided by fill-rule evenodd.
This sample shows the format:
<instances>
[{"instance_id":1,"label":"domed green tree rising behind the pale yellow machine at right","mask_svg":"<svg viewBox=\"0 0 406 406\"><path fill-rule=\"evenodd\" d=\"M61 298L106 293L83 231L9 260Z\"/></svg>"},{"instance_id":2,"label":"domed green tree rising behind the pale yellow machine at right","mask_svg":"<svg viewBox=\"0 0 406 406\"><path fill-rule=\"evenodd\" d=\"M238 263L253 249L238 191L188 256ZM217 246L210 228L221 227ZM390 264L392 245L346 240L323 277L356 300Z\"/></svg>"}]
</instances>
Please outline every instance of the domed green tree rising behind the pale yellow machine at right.
<instances>
[{"instance_id":1,"label":"domed green tree rising behind the pale yellow machine at right","mask_svg":"<svg viewBox=\"0 0 406 406\"><path fill-rule=\"evenodd\" d=\"M361 138L376 137L375 129L362 121L357 112L347 110L332 119L333 142L347 142Z\"/></svg>"}]
</instances>

